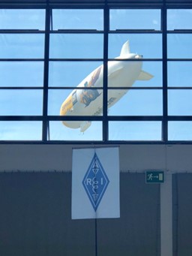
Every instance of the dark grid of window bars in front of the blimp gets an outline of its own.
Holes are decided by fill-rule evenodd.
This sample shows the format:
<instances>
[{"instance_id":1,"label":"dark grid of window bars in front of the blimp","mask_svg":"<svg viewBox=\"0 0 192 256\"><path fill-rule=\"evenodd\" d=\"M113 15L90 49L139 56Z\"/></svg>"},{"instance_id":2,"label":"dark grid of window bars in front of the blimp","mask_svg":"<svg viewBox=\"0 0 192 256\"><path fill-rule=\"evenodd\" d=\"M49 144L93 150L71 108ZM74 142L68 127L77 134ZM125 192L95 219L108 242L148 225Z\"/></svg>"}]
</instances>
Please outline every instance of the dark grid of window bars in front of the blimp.
<instances>
[{"instance_id":1,"label":"dark grid of window bars in front of the blimp","mask_svg":"<svg viewBox=\"0 0 192 256\"><path fill-rule=\"evenodd\" d=\"M167 92L168 89L192 89L192 86L190 87L175 87L175 86L168 86L167 84L167 62L172 61L192 61L191 59L168 59L167 58L167 35L169 34L175 34L175 33L182 33L182 34L188 34L192 33L192 29L177 29L176 31L168 31L166 29L167 26L167 13L166 10L168 9L181 9L181 8L192 8L190 5L186 6L179 6L179 5L154 5L153 7L148 7L147 5L143 5L142 8L137 6L137 5L121 5L119 6L110 6L110 5L101 5L101 6L95 6L95 7L90 7L88 5L85 6L71 6L70 8L96 8L96 9L102 9L104 10L104 31L93 31L92 29L80 29L80 30L74 30L74 29L67 29L67 30L61 30L61 31L52 31L51 28L51 20L52 20L52 9L53 8L66 8L65 5L30 5L27 8L31 9L44 9L46 10L46 20L45 20L45 30L42 31L37 31L33 29L1 29L0 34L2 33L11 33L11 34L20 34L25 32L26 34L44 34L45 40L44 40L44 58L43 59L0 59L0 62L44 62L44 72L43 72L43 115L42 116L0 116L0 121L41 121L43 123L42 125L42 141L0 141L0 143L92 143L92 141L58 141L58 140L49 140L49 122L50 121L62 121L62 120L71 120L71 121L78 121L78 120L90 120L90 121L100 121L103 122L103 140L102 141L94 141L94 143L98 144L103 144L103 143L108 143L108 144L113 144L113 143L157 143L157 144L164 144L164 143L192 143L192 141L172 141L168 140L168 122L169 121L192 121L192 116L168 116L168 110L167 110L167 105L168 105L168 96ZM0 6L0 8L12 8L10 6L6 7L5 6ZM26 8L26 5L21 5L20 7L17 6L18 9L20 8ZM67 7L69 8L69 7ZM128 8L128 9L160 9L161 11L161 29L160 31L151 31L147 29L122 29L121 31L110 31L110 20L109 20L109 14L110 14L110 9L113 8ZM104 57L102 59L50 59L49 58L49 37L51 34L55 33L95 33L95 34L102 34L104 35ZM107 89L110 89L110 87L107 88L107 62L108 61L113 61L114 59L108 59L108 41L109 41L109 35L110 34L124 34L124 33L133 33L133 34L139 34L139 33L146 33L146 34L161 34L162 35L162 50L163 50L163 56L162 59L143 59L143 62L162 62L163 64L163 86L162 87L138 87L138 88L131 88L131 89L162 89L163 90L163 115L162 116L107 116ZM48 90L49 89L62 89L62 87L52 87L49 86L49 62L51 61L100 61L104 63L104 114L103 116L49 116L48 115ZM67 87L64 87L67 89ZM42 89L42 87L4 87L1 86L1 89ZM73 88L68 88L68 89L73 89ZM114 88L113 88L114 89ZM119 88L116 88L119 89ZM109 122L110 121L160 121L162 122L162 140L157 140L157 141L113 141L109 140Z\"/></svg>"}]
</instances>

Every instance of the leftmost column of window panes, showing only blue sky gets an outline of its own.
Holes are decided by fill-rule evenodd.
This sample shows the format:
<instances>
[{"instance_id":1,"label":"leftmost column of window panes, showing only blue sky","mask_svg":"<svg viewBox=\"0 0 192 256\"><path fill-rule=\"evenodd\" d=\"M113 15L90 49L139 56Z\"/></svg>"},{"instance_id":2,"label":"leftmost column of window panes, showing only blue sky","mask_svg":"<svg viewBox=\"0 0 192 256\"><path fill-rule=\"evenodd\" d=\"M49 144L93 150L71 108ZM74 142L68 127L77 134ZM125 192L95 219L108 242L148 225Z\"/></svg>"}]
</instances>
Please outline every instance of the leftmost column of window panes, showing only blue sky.
<instances>
[{"instance_id":1,"label":"leftmost column of window panes, showing only blue sky","mask_svg":"<svg viewBox=\"0 0 192 256\"><path fill-rule=\"evenodd\" d=\"M40 141L45 10L0 9L0 29L0 140Z\"/></svg>"}]
</instances>

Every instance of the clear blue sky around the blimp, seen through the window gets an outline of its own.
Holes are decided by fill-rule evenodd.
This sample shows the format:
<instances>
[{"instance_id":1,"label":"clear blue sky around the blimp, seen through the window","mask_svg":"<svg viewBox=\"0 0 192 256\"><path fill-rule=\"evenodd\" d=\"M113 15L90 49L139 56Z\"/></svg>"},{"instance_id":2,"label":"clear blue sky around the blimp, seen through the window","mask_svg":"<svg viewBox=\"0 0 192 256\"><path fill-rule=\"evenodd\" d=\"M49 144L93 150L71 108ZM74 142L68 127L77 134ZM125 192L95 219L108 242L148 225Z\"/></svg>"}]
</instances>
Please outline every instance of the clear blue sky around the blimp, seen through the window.
<instances>
[{"instance_id":1,"label":"clear blue sky around the blimp, seen through the window","mask_svg":"<svg viewBox=\"0 0 192 256\"><path fill-rule=\"evenodd\" d=\"M168 10L167 28L192 29L191 10ZM138 19L139 17L139 19ZM0 29L44 30L44 10L1 10ZM109 35L109 58L119 56L121 46L130 42L130 52L142 54L152 62L144 61L142 69L153 78L136 81L132 89L113 106L110 116L162 116L162 35L160 31L160 10L111 10ZM104 29L103 10L53 10L52 29ZM117 29L150 29L153 34L118 33ZM115 33L113 33L115 31ZM155 33L157 32L157 33ZM192 35L169 34L167 36L169 59L192 58L190 46ZM49 58L51 59L102 59L104 36L99 34L51 34ZM0 87L43 86L44 35L42 34L0 34L0 59L39 59L35 62L0 61ZM101 65L95 62L49 62L49 86L77 86L88 74ZM168 86L191 85L192 62L168 62ZM151 87L144 90L142 87ZM20 89L0 91L1 116L40 116L43 111L42 89ZM63 101L71 89L49 89L49 115L59 115ZM168 92L168 113L172 116L190 116L192 90L179 89ZM183 128L184 127L184 128ZM92 122L84 133L66 128L62 122L50 122L51 140L102 140L102 122ZM169 140L191 140L191 122L171 122ZM40 122L0 122L0 140L40 140ZM110 140L160 140L160 122L113 122L110 123Z\"/></svg>"}]
</instances>

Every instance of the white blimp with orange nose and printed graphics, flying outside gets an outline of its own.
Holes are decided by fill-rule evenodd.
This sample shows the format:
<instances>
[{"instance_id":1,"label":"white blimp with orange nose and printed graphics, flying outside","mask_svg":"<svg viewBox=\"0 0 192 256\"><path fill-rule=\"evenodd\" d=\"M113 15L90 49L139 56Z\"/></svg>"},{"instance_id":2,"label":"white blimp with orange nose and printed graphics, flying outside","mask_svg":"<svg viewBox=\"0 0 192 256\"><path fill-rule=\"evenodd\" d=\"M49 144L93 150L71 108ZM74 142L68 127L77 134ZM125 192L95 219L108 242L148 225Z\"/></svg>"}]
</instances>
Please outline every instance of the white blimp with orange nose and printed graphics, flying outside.
<instances>
[{"instance_id":1,"label":"white blimp with orange nose and printed graphics, flying outside","mask_svg":"<svg viewBox=\"0 0 192 256\"><path fill-rule=\"evenodd\" d=\"M121 48L120 56L107 64L107 86L110 88L121 87L121 89L109 89L107 92L107 107L112 107L119 101L133 85L136 80L150 80L153 76L142 71L142 56L130 53L129 41ZM124 60L136 61L124 61ZM138 61L137 61L138 59ZM78 87L80 87L78 89ZM62 103L60 116L99 116L103 113L103 65L92 71L74 89L68 98ZM124 87L124 89L123 89ZM100 89L101 88L101 89ZM69 128L80 128L84 132L92 124L89 121L63 121Z\"/></svg>"}]
</instances>

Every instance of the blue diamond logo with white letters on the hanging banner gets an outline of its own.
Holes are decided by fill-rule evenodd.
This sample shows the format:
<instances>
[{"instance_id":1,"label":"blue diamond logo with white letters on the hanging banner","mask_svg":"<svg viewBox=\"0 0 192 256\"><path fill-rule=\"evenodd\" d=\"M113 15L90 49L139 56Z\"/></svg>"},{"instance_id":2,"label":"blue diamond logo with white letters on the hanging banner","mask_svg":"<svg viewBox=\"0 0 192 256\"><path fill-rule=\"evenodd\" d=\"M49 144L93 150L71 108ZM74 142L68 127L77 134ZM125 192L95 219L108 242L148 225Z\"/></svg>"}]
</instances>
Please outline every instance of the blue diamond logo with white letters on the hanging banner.
<instances>
[{"instance_id":1,"label":"blue diamond logo with white letters on the hanging banner","mask_svg":"<svg viewBox=\"0 0 192 256\"><path fill-rule=\"evenodd\" d=\"M102 166L101 161L99 161L98 155L95 153L83 179L83 186L95 212L101 203L101 199L104 196L109 183L110 180L104 171L104 167Z\"/></svg>"}]
</instances>

